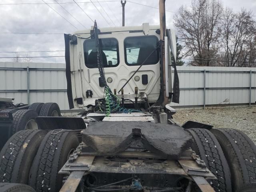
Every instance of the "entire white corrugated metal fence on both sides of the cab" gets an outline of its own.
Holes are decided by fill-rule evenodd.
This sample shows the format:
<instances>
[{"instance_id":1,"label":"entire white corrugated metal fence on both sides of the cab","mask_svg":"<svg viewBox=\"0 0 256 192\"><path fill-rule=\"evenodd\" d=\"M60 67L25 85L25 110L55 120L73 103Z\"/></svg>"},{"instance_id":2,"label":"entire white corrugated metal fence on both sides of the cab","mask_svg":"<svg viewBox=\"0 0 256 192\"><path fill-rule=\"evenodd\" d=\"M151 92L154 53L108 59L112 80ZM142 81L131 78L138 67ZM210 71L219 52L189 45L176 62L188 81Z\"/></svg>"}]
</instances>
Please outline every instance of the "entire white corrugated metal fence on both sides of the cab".
<instances>
[{"instance_id":1,"label":"entire white corrugated metal fence on both sides of the cab","mask_svg":"<svg viewBox=\"0 0 256 192\"><path fill-rule=\"evenodd\" d=\"M256 68L178 66L178 108L256 102ZM0 62L0 97L15 103L56 102L68 110L65 64Z\"/></svg>"}]
</instances>

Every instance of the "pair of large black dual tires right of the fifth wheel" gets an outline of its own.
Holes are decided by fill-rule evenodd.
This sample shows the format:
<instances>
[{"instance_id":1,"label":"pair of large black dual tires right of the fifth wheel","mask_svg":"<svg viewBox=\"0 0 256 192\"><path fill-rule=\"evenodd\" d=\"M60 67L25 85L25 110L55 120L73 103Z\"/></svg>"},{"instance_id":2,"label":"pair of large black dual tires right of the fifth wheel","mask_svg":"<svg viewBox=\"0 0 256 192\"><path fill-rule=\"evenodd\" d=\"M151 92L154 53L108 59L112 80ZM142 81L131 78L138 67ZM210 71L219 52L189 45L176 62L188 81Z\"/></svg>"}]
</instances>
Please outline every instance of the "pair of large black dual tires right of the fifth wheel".
<instances>
[{"instance_id":1,"label":"pair of large black dual tires right of the fifth wheel","mask_svg":"<svg viewBox=\"0 0 256 192\"><path fill-rule=\"evenodd\" d=\"M246 134L226 128L188 131L192 149L217 178L208 180L215 191L256 192L256 146Z\"/></svg>"}]
</instances>

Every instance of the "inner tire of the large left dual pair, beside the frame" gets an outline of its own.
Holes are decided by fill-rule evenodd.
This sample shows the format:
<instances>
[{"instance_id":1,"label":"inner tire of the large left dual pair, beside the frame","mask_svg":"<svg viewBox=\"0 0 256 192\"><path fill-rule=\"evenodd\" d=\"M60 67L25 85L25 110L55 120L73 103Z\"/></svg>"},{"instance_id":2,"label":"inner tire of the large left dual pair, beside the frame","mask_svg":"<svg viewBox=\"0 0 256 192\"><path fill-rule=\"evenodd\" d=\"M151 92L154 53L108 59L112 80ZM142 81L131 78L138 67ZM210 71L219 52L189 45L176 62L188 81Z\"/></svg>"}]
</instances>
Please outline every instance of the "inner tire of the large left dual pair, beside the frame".
<instances>
[{"instance_id":1,"label":"inner tire of the large left dual pair, beside the frame","mask_svg":"<svg viewBox=\"0 0 256 192\"><path fill-rule=\"evenodd\" d=\"M64 174L58 174L79 141L74 132L48 132L34 159L29 185L37 192L59 191Z\"/></svg>"}]
</instances>

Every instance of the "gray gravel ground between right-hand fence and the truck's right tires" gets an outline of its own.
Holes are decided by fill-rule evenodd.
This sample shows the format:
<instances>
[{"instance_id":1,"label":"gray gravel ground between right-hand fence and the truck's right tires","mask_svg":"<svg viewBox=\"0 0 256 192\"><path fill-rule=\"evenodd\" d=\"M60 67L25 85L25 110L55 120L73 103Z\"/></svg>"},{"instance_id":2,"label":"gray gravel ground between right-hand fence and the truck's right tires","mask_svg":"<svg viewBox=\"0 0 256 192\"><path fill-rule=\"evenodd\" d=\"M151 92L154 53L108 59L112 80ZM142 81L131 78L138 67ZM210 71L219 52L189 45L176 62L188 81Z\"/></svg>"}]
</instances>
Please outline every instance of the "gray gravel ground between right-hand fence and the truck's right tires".
<instances>
[{"instance_id":1,"label":"gray gravel ground between right-hand fence and the truck's right tires","mask_svg":"<svg viewBox=\"0 0 256 192\"><path fill-rule=\"evenodd\" d=\"M213 125L214 128L238 129L256 144L256 106L177 110L173 118L179 124L192 120Z\"/></svg>"}]
</instances>

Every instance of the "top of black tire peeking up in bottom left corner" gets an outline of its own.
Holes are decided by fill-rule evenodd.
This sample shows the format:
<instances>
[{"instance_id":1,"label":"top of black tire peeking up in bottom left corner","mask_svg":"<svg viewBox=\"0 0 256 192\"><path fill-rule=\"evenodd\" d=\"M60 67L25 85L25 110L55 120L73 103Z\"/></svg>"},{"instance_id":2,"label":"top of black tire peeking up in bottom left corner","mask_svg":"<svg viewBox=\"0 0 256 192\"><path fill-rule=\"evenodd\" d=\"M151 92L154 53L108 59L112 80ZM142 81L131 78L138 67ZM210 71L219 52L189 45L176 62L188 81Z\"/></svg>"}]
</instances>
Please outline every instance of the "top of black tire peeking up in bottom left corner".
<instances>
[{"instance_id":1,"label":"top of black tire peeking up in bottom left corner","mask_svg":"<svg viewBox=\"0 0 256 192\"><path fill-rule=\"evenodd\" d=\"M1 192L36 192L32 187L20 183L0 183Z\"/></svg>"}]
</instances>

